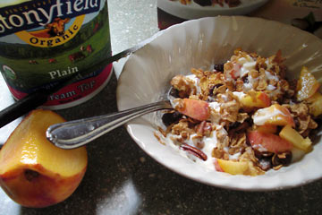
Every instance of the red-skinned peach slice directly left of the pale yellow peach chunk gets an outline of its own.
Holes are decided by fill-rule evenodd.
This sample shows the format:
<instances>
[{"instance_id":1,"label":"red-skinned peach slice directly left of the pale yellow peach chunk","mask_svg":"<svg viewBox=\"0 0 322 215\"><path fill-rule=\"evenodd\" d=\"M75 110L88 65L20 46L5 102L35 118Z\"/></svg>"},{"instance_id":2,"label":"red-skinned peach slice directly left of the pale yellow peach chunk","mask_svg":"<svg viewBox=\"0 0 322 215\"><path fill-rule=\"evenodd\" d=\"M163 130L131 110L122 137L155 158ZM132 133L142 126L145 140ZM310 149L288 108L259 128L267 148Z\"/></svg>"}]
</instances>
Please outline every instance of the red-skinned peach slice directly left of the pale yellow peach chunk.
<instances>
[{"instance_id":1,"label":"red-skinned peach slice directly left of the pale yellow peach chunk","mask_svg":"<svg viewBox=\"0 0 322 215\"><path fill-rule=\"evenodd\" d=\"M253 149L259 152L284 152L292 150L293 145L273 133L262 133L258 131L251 131L247 133L247 138Z\"/></svg>"}]
</instances>

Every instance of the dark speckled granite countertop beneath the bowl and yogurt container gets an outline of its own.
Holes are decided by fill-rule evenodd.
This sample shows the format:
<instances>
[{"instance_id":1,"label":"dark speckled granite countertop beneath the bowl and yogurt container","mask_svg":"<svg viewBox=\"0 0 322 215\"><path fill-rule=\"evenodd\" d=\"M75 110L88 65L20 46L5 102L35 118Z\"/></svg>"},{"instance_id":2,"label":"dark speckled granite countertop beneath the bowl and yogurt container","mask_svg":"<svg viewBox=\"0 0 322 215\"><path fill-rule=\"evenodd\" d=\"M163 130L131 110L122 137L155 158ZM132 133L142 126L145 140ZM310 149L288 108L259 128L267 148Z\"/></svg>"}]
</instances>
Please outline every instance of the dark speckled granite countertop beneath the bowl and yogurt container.
<instances>
[{"instance_id":1,"label":"dark speckled granite countertop beneath the bowl and yogurt container","mask_svg":"<svg viewBox=\"0 0 322 215\"><path fill-rule=\"evenodd\" d=\"M157 32L156 0L108 0L114 53ZM124 60L114 64L116 75ZM94 99L58 111L68 120L117 110L116 75ZM1 108L13 102L0 79ZM89 112L90 109L90 112ZM3 143L19 120L0 130ZM322 181L284 191L231 191L202 185L164 168L146 155L124 127L88 146L89 168L66 201L28 209L0 190L0 214L320 214Z\"/></svg>"}]
</instances>

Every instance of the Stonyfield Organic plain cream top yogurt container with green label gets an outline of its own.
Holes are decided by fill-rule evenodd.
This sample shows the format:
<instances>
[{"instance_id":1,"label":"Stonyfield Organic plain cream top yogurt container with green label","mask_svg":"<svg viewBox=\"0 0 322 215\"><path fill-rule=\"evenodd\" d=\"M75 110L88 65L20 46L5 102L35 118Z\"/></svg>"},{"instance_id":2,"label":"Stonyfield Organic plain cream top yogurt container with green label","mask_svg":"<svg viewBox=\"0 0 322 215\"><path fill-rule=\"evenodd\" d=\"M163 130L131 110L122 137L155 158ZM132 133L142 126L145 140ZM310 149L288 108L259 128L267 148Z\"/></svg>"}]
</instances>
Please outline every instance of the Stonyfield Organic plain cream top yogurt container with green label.
<instances>
[{"instance_id":1,"label":"Stonyfield Organic plain cream top yogurt container with green label","mask_svg":"<svg viewBox=\"0 0 322 215\"><path fill-rule=\"evenodd\" d=\"M97 94L112 64L107 0L3 0L0 3L0 69L15 99L77 81L50 95L44 107L62 109Z\"/></svg>"}]
</instances>

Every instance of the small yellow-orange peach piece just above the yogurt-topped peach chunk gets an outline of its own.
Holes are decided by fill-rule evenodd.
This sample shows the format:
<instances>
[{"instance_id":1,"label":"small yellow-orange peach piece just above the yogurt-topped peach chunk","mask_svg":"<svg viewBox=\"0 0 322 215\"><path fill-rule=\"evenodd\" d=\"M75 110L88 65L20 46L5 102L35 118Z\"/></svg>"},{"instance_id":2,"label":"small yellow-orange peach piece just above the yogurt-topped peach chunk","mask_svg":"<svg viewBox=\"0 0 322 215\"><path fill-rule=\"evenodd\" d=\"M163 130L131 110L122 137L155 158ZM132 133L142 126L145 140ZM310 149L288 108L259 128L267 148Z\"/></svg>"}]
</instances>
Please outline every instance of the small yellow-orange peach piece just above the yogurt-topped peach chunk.
<instances>
[{"instance_id":1,"label":"small yellow-orange peach piece just above the yogurt-topped peach chunk","mask_svg":"<svg viewBox=\"0 0 322 215\"><path fill-rule=\"evenodd\" d=\"M254 96L246 94L240 99L243 107L269 107L271 100L267 96L267 93L263 91L255 91Z\"/></svg>"}]
</instances>

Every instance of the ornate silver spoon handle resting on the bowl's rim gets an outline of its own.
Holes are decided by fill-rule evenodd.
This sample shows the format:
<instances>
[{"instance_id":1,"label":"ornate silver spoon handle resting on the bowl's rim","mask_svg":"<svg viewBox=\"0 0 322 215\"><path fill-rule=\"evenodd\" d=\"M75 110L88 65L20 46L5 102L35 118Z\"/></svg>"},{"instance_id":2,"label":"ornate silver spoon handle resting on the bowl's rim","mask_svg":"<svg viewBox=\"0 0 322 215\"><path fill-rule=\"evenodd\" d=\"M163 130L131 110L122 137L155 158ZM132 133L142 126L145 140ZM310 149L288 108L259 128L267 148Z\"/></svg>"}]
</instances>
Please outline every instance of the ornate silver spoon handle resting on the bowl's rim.
<instances>
[{"instance_id":1,"label":"ornate silver spoon handle resting on the bowl's rim","mask_svg":"<svg viewBox=\"0 0 322 215\"><path fill-rule=\"evenodd\" d=\"M47 139L63 149L78 148L97 137L108 133L132 119L162 109L172 109L169 100L158 101L141 107L85 119L51 125L47 129Z\"/></svg>"}]
</instances>

